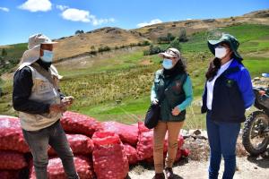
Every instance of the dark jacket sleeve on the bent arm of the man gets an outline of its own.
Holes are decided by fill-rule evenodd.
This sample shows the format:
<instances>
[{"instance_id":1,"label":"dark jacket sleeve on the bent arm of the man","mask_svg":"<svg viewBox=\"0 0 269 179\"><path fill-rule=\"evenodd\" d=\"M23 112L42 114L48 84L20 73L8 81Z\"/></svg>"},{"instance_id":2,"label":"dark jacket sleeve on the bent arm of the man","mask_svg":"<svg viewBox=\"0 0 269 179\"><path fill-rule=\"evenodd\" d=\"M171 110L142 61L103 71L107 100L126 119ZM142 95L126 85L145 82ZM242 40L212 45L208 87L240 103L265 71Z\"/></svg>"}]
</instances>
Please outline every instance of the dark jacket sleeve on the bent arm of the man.
<instances>
[{"instance_id":1,"label":"dark jacket sleeve on the bent arm of the man","mask_svg":"<svg viewBox=\"0 0 269 179\"><path fill-rule=\"evenodd\" d=\"M15 72L13 79L13 107L16 111L30 114L44 114L49 112L49 104L30 100L33 86L30 68L25 66Z\"/></svg>"}]
</instances>

